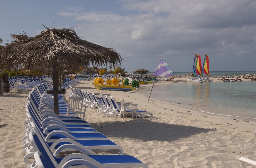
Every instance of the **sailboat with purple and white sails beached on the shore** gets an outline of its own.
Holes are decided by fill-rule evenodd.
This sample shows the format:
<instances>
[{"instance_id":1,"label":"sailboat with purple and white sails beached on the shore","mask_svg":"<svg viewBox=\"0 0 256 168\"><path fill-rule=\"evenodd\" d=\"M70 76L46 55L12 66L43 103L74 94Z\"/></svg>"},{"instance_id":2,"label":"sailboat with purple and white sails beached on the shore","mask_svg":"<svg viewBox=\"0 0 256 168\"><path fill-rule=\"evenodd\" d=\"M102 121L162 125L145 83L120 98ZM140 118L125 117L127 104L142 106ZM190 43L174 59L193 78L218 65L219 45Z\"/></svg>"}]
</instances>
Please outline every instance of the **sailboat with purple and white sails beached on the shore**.
<instances>
[{"instance_id":1,"label":"sailboat with purple and white sails beached on the shore","mask_svg":"<svg viewBox=\"0 0 256 168\"><path fill-rule=\"evenodd\" d=\"M153 73L153 76L157 77L165 77L165 78L157 78L159 81L168 81L171 80L171 78L167 78L170 76L173 76L172 70L168 66L166 60L159 60L156 69Z\"/></svg>"}]
</instances>

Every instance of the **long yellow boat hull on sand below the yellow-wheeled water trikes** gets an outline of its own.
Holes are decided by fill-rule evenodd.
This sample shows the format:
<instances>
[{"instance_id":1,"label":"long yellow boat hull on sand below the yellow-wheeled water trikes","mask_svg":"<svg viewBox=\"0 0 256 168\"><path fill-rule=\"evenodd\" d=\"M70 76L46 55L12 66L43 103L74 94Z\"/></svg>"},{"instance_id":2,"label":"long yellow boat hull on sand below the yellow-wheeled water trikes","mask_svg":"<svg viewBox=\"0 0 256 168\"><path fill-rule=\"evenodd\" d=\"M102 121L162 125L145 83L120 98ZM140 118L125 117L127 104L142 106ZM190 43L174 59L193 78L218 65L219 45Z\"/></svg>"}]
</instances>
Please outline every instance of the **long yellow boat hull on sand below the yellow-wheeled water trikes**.
<instances>
[{"instance_id":1,"label":"long yellow boat hull on sand below the yellow-wheeled water trikes","mask_svg":"<svg viewBox=\"0 0 256 168\"><path fill-rule=\"evenodd\" d=\"M133 91L136 88L132 86L125 85L107 85L107 84L93 84L98 90L108 90L108 91Z\"/></svg>"}]
</instances>

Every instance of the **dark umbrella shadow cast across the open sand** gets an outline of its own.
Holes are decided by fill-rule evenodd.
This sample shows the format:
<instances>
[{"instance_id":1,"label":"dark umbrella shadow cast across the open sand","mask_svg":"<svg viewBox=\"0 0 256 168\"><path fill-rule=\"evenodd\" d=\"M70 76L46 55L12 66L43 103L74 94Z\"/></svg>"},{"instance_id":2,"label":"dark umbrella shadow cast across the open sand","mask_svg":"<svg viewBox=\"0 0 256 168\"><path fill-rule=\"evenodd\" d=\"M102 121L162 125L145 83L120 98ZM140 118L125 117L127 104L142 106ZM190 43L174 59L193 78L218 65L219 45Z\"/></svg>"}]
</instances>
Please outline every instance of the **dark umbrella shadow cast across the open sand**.
<instances>
[{"instance_id":1,"label":"dark umbrella shadow cast across the open sand","mask_svg":"<svg viewBox=\"0 0 256 168\"><path fill-rule=\"evenodd\" d=\"M108 137L131 138L143 141L159 140L170 142L180 138L188 138L198 133L215 131L215 129L194 126L158 123L147 119L139 119L139 121L102 122L91 125L97 131Z\"/></svg>"}]
</instances>

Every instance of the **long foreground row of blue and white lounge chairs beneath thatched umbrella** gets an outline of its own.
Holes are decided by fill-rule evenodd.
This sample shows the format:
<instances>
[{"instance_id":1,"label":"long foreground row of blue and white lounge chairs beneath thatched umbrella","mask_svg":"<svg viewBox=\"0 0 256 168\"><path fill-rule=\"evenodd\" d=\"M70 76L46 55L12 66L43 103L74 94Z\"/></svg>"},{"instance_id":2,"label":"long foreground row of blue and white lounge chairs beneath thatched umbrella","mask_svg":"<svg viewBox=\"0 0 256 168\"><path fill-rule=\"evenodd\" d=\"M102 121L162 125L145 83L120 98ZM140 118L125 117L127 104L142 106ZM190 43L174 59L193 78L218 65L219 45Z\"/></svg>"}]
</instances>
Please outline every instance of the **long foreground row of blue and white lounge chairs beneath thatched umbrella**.
<instances>
[{"instance_id":1,"label":"long foreground row of blue and white lounge chairs beneath thatched umbrella","mask_svg":"<svg viewBox=\"0 0 256 168\"><path fill-rule=\"evenodd\" d=\"M40 84L37 86L40 90L34 88L28 96L27 119L24 122L26 128L22 139L22 155L24 162L30 164L28 167L148 168L137 158L124 155L123 148L82 118L71 116L76 113L73 113L73 109L70 109L72 105L68 105L62 95L59 95L60 114L53 113L52 95L44 91L50 87L51 84ZM117 154L100 155L100 152L109 150Z\"/></svg>"}]
</instances>

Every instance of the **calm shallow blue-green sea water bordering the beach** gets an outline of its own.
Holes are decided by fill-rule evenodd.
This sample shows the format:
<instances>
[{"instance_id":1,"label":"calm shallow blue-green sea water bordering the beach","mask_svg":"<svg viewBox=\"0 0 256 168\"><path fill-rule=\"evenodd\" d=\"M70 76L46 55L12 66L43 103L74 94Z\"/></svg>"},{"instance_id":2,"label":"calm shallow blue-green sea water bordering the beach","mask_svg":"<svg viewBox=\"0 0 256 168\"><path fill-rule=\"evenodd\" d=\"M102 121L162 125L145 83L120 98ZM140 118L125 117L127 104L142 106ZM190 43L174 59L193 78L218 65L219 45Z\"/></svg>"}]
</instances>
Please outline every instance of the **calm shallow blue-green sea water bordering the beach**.
<instances>
[{"instance_id":1,"label":"calm shallow blue-green sea water bordering the beach","mask_svg":"<svg viewBox=\"0 0 256 168\"><path fill-rule=\"evenodd\" d=\"M180 72L186 74L187 72ZM216 74L215 74L216 73ZM256 71L211 72L211 76L247 75ZM174 72L176 75L176 73ZM144 92L148 97L150 89ZM256 119L256 82L182 82L154 85L151 99L198 109L215 115ZM151 101L151 100L149 100Z\"/></svg>"}]
</instances>

